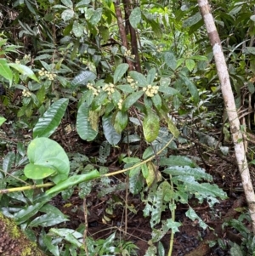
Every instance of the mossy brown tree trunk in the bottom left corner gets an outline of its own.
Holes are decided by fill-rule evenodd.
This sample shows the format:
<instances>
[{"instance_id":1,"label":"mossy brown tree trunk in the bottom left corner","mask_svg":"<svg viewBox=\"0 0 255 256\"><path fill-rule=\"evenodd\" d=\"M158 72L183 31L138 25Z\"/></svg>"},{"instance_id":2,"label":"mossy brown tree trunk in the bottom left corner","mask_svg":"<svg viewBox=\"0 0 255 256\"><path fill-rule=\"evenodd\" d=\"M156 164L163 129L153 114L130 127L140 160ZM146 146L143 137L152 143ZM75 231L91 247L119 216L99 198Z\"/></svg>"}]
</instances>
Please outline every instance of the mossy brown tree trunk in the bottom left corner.
<instances>
[{"instance_id":1,"label":"mossy brown tree trunk in the bottom left corner","mask_svg":"<svg viewBox=\"0 0 255 256\"><path fill-rule=\"evenodd\" d=\"M15 225L14 220L0 213L0 255L2 256L46 256L35 242Z\"/></svg>"}]
</instances>

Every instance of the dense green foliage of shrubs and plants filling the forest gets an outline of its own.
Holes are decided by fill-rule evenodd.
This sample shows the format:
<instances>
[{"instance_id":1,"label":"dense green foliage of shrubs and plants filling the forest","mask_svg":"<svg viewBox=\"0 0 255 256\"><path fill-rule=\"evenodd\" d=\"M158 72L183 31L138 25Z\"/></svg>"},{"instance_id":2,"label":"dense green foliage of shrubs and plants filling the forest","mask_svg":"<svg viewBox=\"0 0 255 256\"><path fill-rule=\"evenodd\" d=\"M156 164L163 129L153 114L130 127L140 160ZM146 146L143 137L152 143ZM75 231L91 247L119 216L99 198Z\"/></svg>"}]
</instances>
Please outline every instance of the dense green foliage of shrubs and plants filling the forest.
<instances>
[{"instance_id":1,"label":"dense green foliage of shrubs and plants filling the forest","mask_svg":"<svg viewBox=\"0 0 255 256\"><path fill-rule=\"evenodd\" d=\"M116 191L128 188L130 196L141 196L144 217L150 218L151 241L145 255L165 255L162 237L169 230L178 232L182 225L174 218L178 203L195 198L212 208L218 198L226 198L212 176L182 151L182 145L187 145L183 134L197 134L201 143L216 146L211 133L222 122L222 99L201 14L195 5L178 6L176 1L133 6L129 23L139 41L139 54L133 56L134 48L122 46L112 1L21 2L12 6L18 8L19 20L9 20L18 37L5 29L6 37L0 38L0 82L8 92L20 95L14 101L0 96L11 113L7 117L1 112L0 125L13 118L13 128L32 131L33 139L19 142L16 152L4 156L0 188L17 188L26 182L41 189L0 194L1 211L34 240L32 228L37 227L42 249L52 255L85 255L84 244L89 255L136 255L133 242L117 236L119 228L105 239L87 236L83 242L86 227L62 227L68 217L50 204L58 193L66 200L75 188L82 199L95 187L99 197L116 196ZM228 42L224 53L238 103L244 84L254 93L254 48L252 44L241 48L246 35L253 37L253 3L213 4L217 4L214 14L221 37ZM128 47L133 47L129 34L127 40ZM22 52L16 45L24 45ZM142 72L130 71L126 60L138 65L138 59ZM67 154L66 147L48 139L66 120L76 124L86 145L99 145L99 156ZM222 146L220 151L228 154ZM124 163L128 183L113 183L109 178L113 175L109 160L115 161L111 159L115 154L116 162ZM42 187L48 180L54 184L45 191ZM135 213L122 201L113 202L111 210L121 205ZM171 213L170 218L161 218L165 211ZM203 229L208 227L194 208L185 214ZM245 235L245 226L235 221L230 225L245 238L241 250L246 246L252 252L253 238ZM240 247L233 244L231 253L236 252L240 253Z\"/></svg>"}]
</instances>

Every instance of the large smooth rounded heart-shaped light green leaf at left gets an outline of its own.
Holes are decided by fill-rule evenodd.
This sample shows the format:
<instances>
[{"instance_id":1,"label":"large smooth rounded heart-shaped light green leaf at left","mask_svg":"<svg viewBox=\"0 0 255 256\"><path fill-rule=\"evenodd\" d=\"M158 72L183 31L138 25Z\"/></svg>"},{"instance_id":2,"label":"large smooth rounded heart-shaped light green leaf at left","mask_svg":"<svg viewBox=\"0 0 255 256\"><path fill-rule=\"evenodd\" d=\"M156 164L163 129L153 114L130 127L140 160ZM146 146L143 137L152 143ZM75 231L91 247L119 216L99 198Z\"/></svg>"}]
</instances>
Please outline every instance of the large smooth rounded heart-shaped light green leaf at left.
<instances>
[{"instance_id":1,"label":"large smooth rounded heart-shaped light green leaf at left","mask_svg":"<svg viewBox=\"0 0 255 256\"><path fill-rule=\"evenodd\" d=\"M27 156L30 161L24 169L29 179L43 179L44 172L51 175L55 184L66 179L70 171L68 156L63 148L54 140L48 138L33 139L28 145ZM34 168L32 168L34 166Z\"/></svg>"}]
</instances>

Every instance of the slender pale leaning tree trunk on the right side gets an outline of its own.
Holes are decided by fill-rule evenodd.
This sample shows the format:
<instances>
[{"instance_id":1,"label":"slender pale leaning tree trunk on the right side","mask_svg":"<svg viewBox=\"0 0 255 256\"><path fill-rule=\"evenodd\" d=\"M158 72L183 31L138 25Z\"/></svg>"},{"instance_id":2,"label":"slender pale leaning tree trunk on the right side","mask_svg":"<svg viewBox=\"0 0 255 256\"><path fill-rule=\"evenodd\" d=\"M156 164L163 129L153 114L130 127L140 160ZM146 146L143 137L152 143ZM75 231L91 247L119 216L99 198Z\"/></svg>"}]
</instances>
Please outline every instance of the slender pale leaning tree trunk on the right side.
<instances>
[{"instance_id":1,"label":"slender pale leaning tree trunk on the right side","mask_svg":"<svg viewBox=\"0 0 255 256\"><path fill-rule=\"evenodd\" d=\"M216 29L208 1L197 0L197 2L200 7L205 25L207 27L208 37L212 44L212 51L218 71L218 78L224 97L225 110L227 111L229 117L230 131L232 134L233 142L235 144L235 157L241 174L241 182L246 195L249 212L251 214L252 231L253 234L255 234L255 195L253 191L248 163L246 160L246 151L243 136L241 133L240 121L235 107L235 99L229 81L229 71L226 65L226 61L224 59L221 42L218 37L218 31Z\"/></svg>"}]
</instances>

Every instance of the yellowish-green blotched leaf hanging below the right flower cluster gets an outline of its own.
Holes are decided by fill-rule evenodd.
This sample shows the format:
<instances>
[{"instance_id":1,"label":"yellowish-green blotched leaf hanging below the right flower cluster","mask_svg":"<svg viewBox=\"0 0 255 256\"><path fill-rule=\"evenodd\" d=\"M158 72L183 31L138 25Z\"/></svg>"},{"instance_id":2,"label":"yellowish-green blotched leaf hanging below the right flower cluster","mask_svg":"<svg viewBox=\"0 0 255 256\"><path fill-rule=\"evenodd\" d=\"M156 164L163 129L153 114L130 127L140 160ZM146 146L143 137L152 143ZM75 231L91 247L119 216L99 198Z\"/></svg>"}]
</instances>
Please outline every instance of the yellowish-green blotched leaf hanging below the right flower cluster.
<instances>
[{"instance_id":1,"label":"yellowish-green blotched leaf hanging below the right flower cluster","mask_svg":"<svg viewBox=\"0 0 255 256\"><path fill-rule=\"evenodd\" d=\"M147 142L152 142L159 134L159 129L159 117L157 117L156 113L154 113L153 111L148 110L148 113L147 115L145 115L143 122L144 139Z\"/></svg>"}]
</instances>

